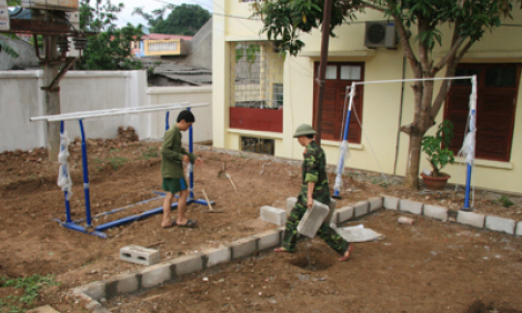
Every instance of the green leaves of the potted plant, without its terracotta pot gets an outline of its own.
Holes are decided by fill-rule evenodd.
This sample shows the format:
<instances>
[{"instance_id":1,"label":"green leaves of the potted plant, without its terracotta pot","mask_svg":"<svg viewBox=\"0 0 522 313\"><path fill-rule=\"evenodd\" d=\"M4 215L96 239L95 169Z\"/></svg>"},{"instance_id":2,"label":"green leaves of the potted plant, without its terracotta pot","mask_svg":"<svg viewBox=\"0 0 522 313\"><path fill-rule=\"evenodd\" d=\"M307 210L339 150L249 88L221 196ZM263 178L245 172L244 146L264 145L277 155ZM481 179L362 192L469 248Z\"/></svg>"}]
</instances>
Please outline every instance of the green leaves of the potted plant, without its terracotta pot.
<instances>
[{"instance_id":1,"label":"green leaves of the potted plant, without its terracotta pot","mask_svg":"<svg viewBox=\"0 0 522 313\"><path fill-rule=\"evenodd\" d=\"M453 124L451 121L445 120L439 125L435 137L425 135L421 141L422 151L428 154L433 168L433 176L438 178L440 171L448 164L455 161L453 151L449 149L451 140L453 139Z\"/></svg>"}]
</instances>

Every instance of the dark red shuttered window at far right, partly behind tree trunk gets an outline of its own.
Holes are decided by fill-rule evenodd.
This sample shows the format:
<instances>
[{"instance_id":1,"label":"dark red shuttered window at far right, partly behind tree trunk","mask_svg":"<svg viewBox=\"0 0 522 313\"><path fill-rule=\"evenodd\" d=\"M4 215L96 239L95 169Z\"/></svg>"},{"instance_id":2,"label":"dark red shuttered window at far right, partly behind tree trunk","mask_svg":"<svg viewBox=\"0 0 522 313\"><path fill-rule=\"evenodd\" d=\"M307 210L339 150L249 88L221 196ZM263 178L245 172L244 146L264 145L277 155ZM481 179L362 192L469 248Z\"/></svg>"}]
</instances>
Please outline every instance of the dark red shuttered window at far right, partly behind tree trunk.
<instances>
[{"instance_id":1,"label":"dark red shuttered window at far right, partly behind tree trunk","mask_svg":"<svg viewBox=\"0 0 522 313\"><path fill-rule=\"evenodd\" d=\"M476 159L510 161L520 64L459 64L456 75L478 77ZM446 98L444 119L454 124L453 152L462 148L469 114L471 81L458 80Z\"/></svg>"}]
</instances>

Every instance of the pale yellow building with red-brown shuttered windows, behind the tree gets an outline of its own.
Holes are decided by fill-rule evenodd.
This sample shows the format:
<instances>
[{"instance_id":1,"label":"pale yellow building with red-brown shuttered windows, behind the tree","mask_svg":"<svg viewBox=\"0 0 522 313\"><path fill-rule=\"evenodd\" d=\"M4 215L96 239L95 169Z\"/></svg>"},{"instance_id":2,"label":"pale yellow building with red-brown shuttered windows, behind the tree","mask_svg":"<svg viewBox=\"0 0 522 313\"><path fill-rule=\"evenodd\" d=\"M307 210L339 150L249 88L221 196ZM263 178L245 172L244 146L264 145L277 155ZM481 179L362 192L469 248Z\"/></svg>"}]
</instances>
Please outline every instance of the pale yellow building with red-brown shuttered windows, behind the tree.
<instances>
[{"instance_id":1,"label":"pale yellow building with red-brown shuttered windows, behind the tree","mask_svg":"<svg viewBox=\"0 0 522 313\"><path fill-rule=\"evenodd\" d=\"M278 57L278 44L267 41L265 33L260 34L262 23L245 19L252 14L249 2L217 0L214 13L213 144L301 159L302 148L292 133L301 123L313 123L320 31L301 34L305 47L299 57L283 59ZM513 11L513 20L504 22L522 24L522 12ZM373 24L391 31L378 48L368 48L372 44L365 34ZM413 78L402 46L392 39L393 23L381 12L367 10L358 14L355 22L343 24L334 32L338 37L330 39L322 123L322 147L330 164L335 164L339 158L345 87L352 81ZM435 59L444 55L451 40L449 29L443 33L446 36L443 36L442 47L433 51ZM522 38L521 27L501 26L493 33L486 32L458 69L458 74L479 77L472 185L513 193L522 192L522 97L519 97L522 41L515 40L518 38ZM409 137L400 132L400 128L413 119L410 85L358 87L347 168L405 174ZM439 85L435 83L435 95ZM438 122L444 118L454 121L458 145L462 145L469 95L466 83L453 83L436 119ZM429 133L434 131L432 128ZM420 170L423 168L430 169L430 165L421 155ZM465 183L465 163L461 158L444 168L444 172L451 174L450 183Z\"/></svg>"}]
</instances>

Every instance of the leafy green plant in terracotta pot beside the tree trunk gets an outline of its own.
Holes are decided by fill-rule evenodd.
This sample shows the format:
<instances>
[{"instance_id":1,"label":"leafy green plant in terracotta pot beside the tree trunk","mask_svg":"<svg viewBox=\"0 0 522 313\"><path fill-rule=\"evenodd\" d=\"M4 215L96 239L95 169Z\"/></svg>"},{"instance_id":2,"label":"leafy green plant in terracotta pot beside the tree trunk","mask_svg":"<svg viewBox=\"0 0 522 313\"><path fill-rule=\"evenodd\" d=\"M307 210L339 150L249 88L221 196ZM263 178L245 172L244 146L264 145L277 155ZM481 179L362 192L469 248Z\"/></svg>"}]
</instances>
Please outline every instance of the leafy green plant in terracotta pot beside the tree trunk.
<instances>
[{"instance_id":1,"label":"leafy green plant in terracotta pot beside the tree trunk","mask_svg":"<svg viewBox=\"0 0 522 313\"><path fill-rule=\"evenodd\" d=\"M450 150L450 142L453 139L453 124L445 120L439 125L436 134L425 135L421 141L422 151L428 154L428 161L432 166L431 175L421 173L424 185L431 190L441 190L448 183L450 175L441 170L455 161L453 151Z\"/></svg>"}]
</instances>

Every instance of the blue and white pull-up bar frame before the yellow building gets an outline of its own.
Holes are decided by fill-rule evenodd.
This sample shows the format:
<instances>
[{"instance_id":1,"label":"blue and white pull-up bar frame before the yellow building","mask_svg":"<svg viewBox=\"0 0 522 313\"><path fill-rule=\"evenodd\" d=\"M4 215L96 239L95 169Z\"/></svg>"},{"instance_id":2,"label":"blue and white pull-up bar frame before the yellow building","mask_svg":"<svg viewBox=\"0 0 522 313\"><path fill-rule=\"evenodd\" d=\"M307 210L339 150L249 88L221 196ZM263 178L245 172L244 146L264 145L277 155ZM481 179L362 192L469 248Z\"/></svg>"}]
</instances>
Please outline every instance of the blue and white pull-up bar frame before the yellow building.
<instances>
[{"instance_id":1,"label":"blue and white pull-up bar frame before the yellow building","mask_svg":"<svg viewBox=\"0 0 522 313\"><path fill-rule=\"evenodd\" d=\"M471 169L473 166L474 155L475 155L475 133L476 133L476 75L471 77L452 77L452 78L428 78L428 79L399 79L399 80L377 80L377 81L362 81L362 82L352 82L350 87L347 87L347 93L350 95L350 104L347 112L347 119L344 122L343 138L341 142L341 156L339 159L337 168L337 176L334 184L333 198L340 199L340 192L342 188L342 172L344 170L344 159L348 155L348 132L350 129L350 115L352 112L353 98L355 97L355 85L358 84L378 84L378 83L396 83L396 82L418 82L418 81L435 81L435 80L471 80L472 89L470 94L470 125L468 135L463 142L461 153L465 156L465 162L468 163L468 176L465 181L465 200L464 206L461 210L471 211L470 208L470 185L471 185Z\"/></svg>"}]
</instances>

